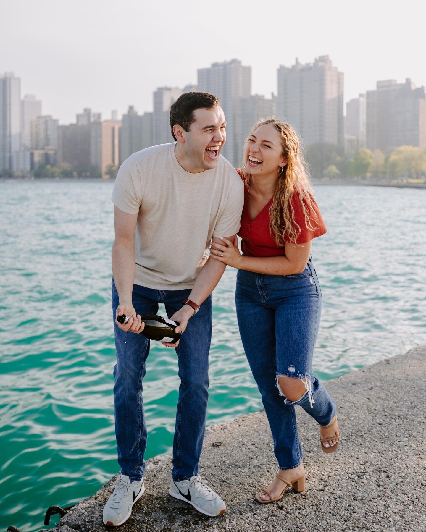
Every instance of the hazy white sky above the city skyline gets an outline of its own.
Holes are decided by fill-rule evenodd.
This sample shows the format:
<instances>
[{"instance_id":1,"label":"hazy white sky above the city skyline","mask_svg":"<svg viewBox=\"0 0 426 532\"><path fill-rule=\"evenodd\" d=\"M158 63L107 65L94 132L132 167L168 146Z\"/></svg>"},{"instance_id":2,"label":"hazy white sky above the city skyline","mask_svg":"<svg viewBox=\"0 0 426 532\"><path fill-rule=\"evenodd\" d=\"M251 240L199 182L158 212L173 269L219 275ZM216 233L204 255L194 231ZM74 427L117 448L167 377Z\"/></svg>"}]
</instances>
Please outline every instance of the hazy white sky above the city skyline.
<instances>
[{"instance_id":1,"label":"hazy white sky above the city skyline","mask_svg":"<svg viewBox=\"0 0 426 532\"><path fill-rule=\"evenodd\" d=\"M276 69L329 54L345 102L376 80L426 85L422 2L365 0L0 0L0 73L21 78L43 113L75 121L83 107L152 110L160 86L236 57L252 92L276 93Z\"/></svg>"}]
</instances>

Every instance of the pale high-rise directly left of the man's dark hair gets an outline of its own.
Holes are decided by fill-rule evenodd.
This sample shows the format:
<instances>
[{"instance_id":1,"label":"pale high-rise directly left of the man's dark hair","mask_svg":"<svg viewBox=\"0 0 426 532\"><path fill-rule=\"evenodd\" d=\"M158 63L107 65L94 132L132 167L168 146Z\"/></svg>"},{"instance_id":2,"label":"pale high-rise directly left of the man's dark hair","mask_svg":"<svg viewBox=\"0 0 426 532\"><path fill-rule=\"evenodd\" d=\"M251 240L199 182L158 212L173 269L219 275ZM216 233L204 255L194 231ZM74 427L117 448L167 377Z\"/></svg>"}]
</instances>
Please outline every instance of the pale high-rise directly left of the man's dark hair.
<instances>
[{"instance_id":1,"label":"pale high-rise directly left of the man's dark hair","mask_svg":"<svg viewBox=\"0 0 426 532\"><path fill-rule=\"evenodd\" d=\"M174 142L170 129L170 107L179 96L179 87L158 87L153 93L154 112L152 113L152 143L167 144Z\"/></svg>"}]
</instances>

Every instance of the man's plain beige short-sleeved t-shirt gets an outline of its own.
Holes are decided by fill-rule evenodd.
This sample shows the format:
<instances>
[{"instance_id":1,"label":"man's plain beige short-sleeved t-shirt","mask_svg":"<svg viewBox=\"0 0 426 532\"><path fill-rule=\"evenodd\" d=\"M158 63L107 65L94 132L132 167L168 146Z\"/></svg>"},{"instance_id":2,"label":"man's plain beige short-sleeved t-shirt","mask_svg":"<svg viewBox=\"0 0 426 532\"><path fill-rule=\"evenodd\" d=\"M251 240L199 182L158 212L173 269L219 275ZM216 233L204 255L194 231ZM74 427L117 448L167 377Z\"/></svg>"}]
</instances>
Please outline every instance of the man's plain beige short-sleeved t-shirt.
<instances>
[{"instance_id":1,"label":"man's plain beige short-sleeved t-shirt","mask_svg":"<svg viewBox=\"0 0 426 532\"><path fill-rule=\"evenodd\" d=\"M159 290L193 287L212 236L235 235L244 204L243 182L222 155L214 170L190 173L175 146L130 155L112 191L121 211L138 213L135 284Z\"/></svg>"}]
</instances>

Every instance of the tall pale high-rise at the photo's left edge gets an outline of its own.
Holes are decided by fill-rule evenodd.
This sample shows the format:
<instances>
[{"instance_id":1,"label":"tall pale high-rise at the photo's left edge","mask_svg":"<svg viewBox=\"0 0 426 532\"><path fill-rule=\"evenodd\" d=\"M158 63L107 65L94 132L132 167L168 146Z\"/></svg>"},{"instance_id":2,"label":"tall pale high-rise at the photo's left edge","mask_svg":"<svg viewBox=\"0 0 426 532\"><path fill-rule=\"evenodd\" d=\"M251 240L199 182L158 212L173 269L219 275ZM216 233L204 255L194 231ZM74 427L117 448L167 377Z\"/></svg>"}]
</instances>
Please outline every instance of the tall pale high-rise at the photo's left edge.
<instances>
[{"instance_id":1,"label":"tall pale high-rise at the photo's left edge","mask_svg":"<svg viewBox=\"0 0 426 532\"><path fill-rule=\"evenodd\" d=\"M0 74L0 172L15 170L14 152L21 150L21 80Z\"/></svg>"}]
</instances>

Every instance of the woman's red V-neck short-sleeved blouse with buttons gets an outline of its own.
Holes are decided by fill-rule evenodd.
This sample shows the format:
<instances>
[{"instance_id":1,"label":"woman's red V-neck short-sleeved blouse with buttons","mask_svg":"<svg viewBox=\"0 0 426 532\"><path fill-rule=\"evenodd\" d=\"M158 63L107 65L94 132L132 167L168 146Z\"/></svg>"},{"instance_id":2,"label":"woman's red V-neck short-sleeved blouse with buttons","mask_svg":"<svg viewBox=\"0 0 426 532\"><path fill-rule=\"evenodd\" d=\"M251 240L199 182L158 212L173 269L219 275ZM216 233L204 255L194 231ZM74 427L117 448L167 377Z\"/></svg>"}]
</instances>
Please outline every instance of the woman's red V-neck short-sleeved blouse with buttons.
<instances>
[{"instance_id":1,"label":"woman's red V-neck short-sleeved blouse with buttons","mask_svg":"<svg viewBox=\"0 0 426 532\"><path fill-rule=\"evenodd\" d=\"M240 169L237 169L240 173ZM241 176L241 174L240 174ZM241 177L242 178L242 177ZM243 179L243 178L242 178ZM297 238L297 244L305 244L318 236L324 235L327 232L320 209L313 197L310 198L312 207L309 209L305 203L307 213L312 220L314 230L306 227L305 214L302 210L302 203L297 193L293 194L291 204L294 209L294 220L300 227L300 235ZM271 207L272 198L263 207L259 214L251 219L249 210L249 196L247 188L244 187L244 207L241 214L241 225L238 236L242 238L241 251L244 255L250 257L273 257L285 255L284 246L278 247L275 240L271 237L269 232L269 207ZM315 214L317 217L315 217ZM287 241L286 241L287 242Z\"/></svg>"}]
</instances>

